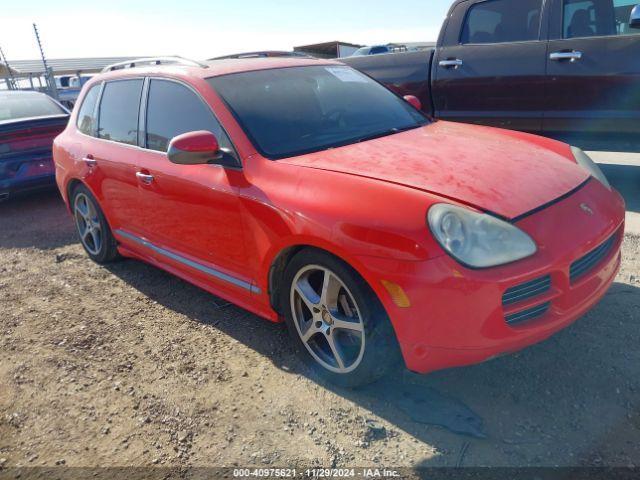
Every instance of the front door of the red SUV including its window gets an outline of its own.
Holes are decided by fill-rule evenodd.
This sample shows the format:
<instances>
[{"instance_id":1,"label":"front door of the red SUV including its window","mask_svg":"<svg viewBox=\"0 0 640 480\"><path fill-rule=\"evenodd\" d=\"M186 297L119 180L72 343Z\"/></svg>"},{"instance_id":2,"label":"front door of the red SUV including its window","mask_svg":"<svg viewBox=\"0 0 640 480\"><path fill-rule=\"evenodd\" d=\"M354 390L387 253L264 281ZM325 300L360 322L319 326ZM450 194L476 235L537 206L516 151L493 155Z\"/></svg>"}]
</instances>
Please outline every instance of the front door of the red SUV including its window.
<instances>
[{"instance_id":1,"label":"front door of the red SUV including its window","mask_svg":"<svg viewBox=\"0 0 640 480\"><path fill-rule=\"evenodd\" d=\"M184 84L151 79L146 135L137 163L140 219L145 240L163 263L222 287L251 290L238 186L240 164L176 165L166 155L170 140L207 130L234 161L233 147L209 107Z\"/></svg>"}]
</instances>

